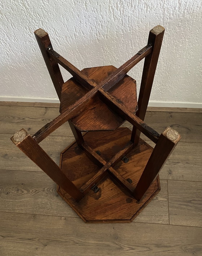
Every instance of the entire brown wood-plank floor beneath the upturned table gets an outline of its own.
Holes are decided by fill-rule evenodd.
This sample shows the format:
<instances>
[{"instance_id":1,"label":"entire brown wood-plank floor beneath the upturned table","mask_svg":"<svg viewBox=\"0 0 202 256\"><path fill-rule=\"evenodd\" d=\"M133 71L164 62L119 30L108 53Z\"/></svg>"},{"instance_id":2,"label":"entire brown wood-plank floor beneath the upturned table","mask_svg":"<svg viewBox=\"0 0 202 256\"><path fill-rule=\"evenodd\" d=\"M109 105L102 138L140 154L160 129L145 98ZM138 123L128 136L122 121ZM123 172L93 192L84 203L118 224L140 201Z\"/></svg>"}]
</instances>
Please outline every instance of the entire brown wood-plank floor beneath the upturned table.
<instances>
[{"instance_id":1,"label":"entire brown wood-plank floor beneath the upturned table","mask_svg":"<svg viewBox=\"0 0 202 256\"><path fill-rule=\"evenodd\" d=\"M34 134L58 105L0 102L0 256L202 256L202 112L149 110L148 125L182 135L161 171L161 192L132 223L87 224L10 141L21 128ZM58 163L73 140L66 123L40 145Z\"/></svg>"}]
</instances>

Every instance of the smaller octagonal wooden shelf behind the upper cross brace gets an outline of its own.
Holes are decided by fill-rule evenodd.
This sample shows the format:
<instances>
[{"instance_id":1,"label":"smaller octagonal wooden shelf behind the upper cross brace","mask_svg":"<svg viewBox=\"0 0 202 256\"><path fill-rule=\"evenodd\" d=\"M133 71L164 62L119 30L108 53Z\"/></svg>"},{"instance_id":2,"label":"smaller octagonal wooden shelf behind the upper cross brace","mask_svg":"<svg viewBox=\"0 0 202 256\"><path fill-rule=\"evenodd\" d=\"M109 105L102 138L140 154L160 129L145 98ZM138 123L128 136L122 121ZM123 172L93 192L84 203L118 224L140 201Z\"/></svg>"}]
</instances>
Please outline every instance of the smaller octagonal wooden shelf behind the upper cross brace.
<instances>
[{"instance_id":1,"label":"smaller octagonal wooden shelf behind the upper cross brace","mask_svg":"<svg viewBox=\"0 0 202 256\"><path fill-rule=\"evenodd\" d=\"M116 71L114 66L84 68L82 72L97 84ZM88 90L76 79L67 80L62 87L60 112L63 113L73 102L82 98ZM127 107L129 111L137 111L136 80L126 75L108 92ZM110 109L98 95L95 95L82 113L70 120L80 131L115 130L125 119ZM92 126L93 122L93 126Z\"/></svg>"}]
</instances>

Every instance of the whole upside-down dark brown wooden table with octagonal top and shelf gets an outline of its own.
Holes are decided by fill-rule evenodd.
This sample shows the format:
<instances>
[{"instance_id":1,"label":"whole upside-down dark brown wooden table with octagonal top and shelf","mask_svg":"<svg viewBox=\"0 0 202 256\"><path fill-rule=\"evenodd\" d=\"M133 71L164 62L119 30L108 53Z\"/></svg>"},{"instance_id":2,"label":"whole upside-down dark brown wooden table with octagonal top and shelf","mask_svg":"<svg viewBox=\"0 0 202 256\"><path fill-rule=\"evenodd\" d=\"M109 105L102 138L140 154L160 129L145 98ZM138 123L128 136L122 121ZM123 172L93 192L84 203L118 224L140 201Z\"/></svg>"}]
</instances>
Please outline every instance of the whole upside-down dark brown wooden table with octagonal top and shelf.
<instances>
[{"instance_id":1,"label":"whole upside-down dark brown wooden table with octagonal top and shelf","mask_svg":"<svg viewBox=\"0 0 202 256\"><path fill-rule=\"evenodd\" d=\"M58 193L84 221L130 222L160 190L158 173L180 139L170 127L160 136L144 122L163 33L164 28L156 26L148 45L119 68L80 71L52 49L44 30L35 32L61 99L61 114L32 137L21 130L11 139L60 186ZM126 74L145 57L136 116L136 81ZM73 75L66 83L58 64ZM125 120L133 125L132 133L117 129ZM76 142L62 151L59 168L38 143L66 121ZM136 129L157 143L154 150L139 139ZM82 131L92 131L84 135L85 141Z\"/></svg>"}]
</instances>

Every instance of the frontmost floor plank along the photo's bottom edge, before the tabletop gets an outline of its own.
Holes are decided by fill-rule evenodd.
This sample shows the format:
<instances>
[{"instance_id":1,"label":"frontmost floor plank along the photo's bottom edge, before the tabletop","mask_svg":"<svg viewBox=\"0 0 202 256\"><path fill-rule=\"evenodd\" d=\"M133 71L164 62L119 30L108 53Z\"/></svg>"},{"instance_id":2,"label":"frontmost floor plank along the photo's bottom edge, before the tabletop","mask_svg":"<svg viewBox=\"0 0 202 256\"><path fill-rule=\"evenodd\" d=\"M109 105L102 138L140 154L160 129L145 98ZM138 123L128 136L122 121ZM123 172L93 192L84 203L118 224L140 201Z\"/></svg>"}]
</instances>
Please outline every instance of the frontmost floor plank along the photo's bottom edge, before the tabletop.
<instances>
[{"instance_id":1,"label":"frontmost floor plank along the photo's bottom edge, before the tabletop","mask_svg":"<svg viewBox=\"0 0 202 256\"><path fill-rule=\"evenodd\" d=\"M202 228L1 213L1 256L201 256Z\"/></svg>"}]
</instances>

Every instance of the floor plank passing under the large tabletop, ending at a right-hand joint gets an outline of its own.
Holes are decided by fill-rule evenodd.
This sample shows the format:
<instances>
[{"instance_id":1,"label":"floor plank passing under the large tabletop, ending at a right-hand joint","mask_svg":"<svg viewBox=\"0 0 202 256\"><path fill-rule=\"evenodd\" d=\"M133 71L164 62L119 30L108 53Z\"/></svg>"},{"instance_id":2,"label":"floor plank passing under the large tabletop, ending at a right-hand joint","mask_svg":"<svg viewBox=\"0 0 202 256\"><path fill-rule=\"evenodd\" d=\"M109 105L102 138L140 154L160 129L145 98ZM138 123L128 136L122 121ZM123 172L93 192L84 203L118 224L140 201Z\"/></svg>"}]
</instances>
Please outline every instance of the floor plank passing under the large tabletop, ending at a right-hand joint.
<instances>
[{"instance_id":1,"label":"floor plank passing under the large tabletop, ending at a right-hand joint","mask_svg":"<svg viewBox=\"0 0 202 256\"><path fill-rule=\"evenodd\" d=\"M79 218L44 172L0 170L0 212L4 211ZM161 180L161 191L136 221L168 224L167 180Z\"/></svg>"}]
</instances>

